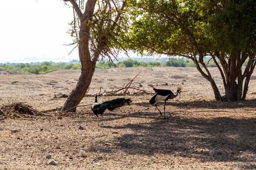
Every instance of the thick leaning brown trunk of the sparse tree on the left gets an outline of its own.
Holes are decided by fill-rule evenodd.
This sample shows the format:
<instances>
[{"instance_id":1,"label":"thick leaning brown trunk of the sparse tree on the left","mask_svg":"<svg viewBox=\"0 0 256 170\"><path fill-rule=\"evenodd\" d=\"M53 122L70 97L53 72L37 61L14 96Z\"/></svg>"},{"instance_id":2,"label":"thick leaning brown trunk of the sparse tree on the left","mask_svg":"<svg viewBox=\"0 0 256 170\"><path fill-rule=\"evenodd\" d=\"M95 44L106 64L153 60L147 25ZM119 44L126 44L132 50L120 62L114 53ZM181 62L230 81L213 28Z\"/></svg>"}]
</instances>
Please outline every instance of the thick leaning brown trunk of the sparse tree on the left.
<instances>
[{"instance_id":1,"label":"thick leaning brown trunk of the sparse tree on the left","mask_svg":"<svg viewBox=\"0 0 256 170\"><path fill-rule=\"evenodd\" d=\"M94 56L96 61L91 60L91 53L89 50L89 37L90 37L90 29L91 25L89 21L94 13L94 8L97 0L87 0L84 14L81 13L79 6L73 0L65 0L70 1L73 4L76 13L80 19L79 26L79 59L81 62L81 75L79 77L78 84L75 89L73 89L64 106L61 108L62 112L76 112L77 105L80 103L82 98L84 97L89 85L91 84L92 77L96 67L96 61L98 56Z\"/></svg>"}]
</instances>

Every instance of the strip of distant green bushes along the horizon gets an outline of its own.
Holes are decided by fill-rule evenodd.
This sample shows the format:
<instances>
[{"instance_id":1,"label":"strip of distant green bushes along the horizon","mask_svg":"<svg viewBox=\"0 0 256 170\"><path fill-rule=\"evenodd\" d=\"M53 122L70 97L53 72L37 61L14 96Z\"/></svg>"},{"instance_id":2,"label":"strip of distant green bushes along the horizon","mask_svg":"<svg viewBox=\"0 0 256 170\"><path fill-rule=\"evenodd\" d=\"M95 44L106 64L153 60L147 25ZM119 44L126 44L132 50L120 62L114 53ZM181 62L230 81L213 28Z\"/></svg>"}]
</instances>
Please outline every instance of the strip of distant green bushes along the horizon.
<instances>
[{"instance_id":1,"label":"strip of distant green bushes along the horizon","mask_svg":"<svg viewBox=\"0 0 256 170\"><path fill-rule=\"evenodd\" d=\"M213 61L210 61L208 67L216 67ZM139 62L138 60L123 60L117 63L110 63L109 61L99 61L96 64L96 68L154 68L154 67L196 67L195 63L191 60L174 59L170 58L166 61L150 61ZM60 70L60 69L80 69L81 66L77 62L70 63L54 63L54 62L42 62L42 63L5 63L0 64L0 70L14 71L33 74L45 74L48 72Z\"/></svg>"}]
</instances>

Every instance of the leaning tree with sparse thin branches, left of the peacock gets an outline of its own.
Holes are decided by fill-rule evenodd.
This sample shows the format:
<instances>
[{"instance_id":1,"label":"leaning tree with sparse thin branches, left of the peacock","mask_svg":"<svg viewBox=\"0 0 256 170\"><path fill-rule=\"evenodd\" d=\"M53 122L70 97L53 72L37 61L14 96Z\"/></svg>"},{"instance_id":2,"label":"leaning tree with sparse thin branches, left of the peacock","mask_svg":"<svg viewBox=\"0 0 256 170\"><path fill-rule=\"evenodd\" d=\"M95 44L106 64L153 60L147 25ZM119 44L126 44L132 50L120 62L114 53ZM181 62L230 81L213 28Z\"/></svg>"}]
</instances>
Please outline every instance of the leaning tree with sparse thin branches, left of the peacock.
<instances>
[{"instance_id":1,"label":"leaning tree with sparse thin branches, left of the peacock","mask_svg":"<svg viewBox=\"0 0 256 170\"><path fill-rule=\"evenodd\" d=\"M121 49L119 35L126 29L126 0L64 1L69 1L74 9L70 34L74 37L72 44L79 48L81 75L61 111L75 112L91 83L99 57L108 57L113 62Z\"/></svg>"}]
</instances>

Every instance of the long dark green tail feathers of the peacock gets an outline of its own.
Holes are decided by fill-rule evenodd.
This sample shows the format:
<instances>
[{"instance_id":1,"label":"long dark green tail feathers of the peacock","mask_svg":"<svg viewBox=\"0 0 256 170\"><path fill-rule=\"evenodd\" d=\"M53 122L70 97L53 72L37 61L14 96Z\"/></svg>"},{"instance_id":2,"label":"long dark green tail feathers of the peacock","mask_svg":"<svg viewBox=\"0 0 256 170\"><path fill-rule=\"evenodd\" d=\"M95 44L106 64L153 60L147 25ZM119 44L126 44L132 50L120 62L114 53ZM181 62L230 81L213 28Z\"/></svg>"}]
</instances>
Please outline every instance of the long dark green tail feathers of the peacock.
<instances>
[{"instance_id":1,"label":"long dark green tail feathers of the peacock","mask_svg":"<svg viewBox=\"0 0 256 170\"><path fill-rule=\"evenodd\" d=\"M108 110L113 111L115 108L124 106L124 105L129 105L131 103L131 99L125 99L125 98L117 98L113 99L111 101L103 102L100 107L107 108Z\"/></svg>"}]
</instances>

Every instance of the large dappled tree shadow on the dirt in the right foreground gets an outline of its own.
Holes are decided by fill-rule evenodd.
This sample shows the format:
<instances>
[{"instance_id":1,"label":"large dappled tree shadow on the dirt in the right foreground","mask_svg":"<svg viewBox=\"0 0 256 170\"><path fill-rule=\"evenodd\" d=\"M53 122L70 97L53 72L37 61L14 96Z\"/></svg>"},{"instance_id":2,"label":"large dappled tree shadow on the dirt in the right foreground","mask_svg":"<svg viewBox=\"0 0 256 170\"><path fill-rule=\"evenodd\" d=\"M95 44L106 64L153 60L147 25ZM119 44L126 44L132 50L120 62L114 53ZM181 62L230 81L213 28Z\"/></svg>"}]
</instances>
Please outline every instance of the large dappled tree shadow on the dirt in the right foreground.
<instances>
[{"instance_id":1,"label":"large dappled tree shadow on the dirt in the right foreground","mask_svg":"<svg viewBox=\"0 0 256 170\"><path fill-rule=\"evenodd\" d=\"M111 146L95 145L89 150L109 153L119 148L131 155L173 154L202 161L244 162L247 166L242 168L256 168L256 118L197 119L174 115L169 119L153 119L150 123L105 126L130 129L133 133L115 138Z\"/></svg>"}]
</instances>

